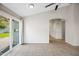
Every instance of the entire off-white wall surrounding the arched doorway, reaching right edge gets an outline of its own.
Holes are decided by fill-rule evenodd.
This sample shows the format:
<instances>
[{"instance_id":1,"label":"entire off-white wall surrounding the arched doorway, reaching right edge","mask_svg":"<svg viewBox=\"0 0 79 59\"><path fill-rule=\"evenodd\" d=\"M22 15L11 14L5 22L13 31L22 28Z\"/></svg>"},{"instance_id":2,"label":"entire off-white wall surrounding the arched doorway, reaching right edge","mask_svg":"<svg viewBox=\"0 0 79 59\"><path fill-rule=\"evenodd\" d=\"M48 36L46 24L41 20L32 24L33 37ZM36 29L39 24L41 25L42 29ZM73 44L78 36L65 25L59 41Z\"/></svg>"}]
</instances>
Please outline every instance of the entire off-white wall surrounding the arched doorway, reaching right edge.
<instances>
[{"instance_id":1,"label":"entire off-white wall surrounding the arched doorway, reaching right edge","mask_svg":"<svg viewBox=\"0 0 79 59\"><path fill-rule=\"evenodd\" d=\"M29 16L24 19L25 43L48 43L49 20L65 20L65 41L71 45L79 45L79 5L72 4L57 11L51 10L46 13Z\"/></svg>"}]
</instances>

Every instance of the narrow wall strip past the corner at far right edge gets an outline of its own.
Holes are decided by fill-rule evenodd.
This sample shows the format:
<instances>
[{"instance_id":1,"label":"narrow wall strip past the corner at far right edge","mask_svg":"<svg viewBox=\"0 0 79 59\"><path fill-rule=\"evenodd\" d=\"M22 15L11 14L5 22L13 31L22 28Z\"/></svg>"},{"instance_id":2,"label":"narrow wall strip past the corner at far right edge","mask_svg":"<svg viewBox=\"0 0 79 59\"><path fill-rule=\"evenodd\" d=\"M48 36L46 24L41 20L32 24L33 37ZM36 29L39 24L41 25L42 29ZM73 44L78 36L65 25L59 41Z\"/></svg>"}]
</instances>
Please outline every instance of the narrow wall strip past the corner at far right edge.
<instances>
[{"instance_id":1,"label":"narrow wall strip past the corner at far right edge","mask_svg":"<svg viewBox=\"0 0 79 59\"><path fill-rule=\"evenodd\" d=\"M79 46L79 4L73 5L73 16L74 16L74 33L75 38L73 44Z\"/></svg>"}]
</instances>

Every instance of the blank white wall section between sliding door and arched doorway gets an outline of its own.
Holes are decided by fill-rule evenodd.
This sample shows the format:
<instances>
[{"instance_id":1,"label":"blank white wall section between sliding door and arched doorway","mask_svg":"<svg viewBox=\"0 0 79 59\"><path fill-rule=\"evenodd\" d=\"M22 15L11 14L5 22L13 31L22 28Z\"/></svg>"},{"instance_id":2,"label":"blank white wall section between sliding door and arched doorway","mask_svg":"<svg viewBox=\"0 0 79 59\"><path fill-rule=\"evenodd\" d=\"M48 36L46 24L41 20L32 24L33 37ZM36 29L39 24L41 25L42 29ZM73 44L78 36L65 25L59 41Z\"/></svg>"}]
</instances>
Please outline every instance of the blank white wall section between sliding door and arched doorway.
<instances>
[{"instance_id":1,"label":"blank white wall section between sliding door and arched doorway","mask_svg":"<svg viewBox=\"0 0 79 59\"><path fill-rule=\"evenodd\" d=\"M24 19L25 43L49 43L49 15L40 13Z\"/></svg>"}]
</instances>

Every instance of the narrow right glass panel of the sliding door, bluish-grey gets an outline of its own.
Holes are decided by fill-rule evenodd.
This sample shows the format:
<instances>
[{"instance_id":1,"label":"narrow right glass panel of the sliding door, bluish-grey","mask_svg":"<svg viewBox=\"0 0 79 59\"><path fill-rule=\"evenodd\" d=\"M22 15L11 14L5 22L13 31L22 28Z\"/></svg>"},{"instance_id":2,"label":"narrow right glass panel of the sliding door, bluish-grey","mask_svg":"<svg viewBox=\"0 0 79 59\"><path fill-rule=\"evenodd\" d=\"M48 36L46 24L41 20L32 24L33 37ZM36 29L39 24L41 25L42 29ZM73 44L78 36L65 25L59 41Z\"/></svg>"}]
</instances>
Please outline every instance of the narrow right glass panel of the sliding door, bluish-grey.
<instances>
[{"instance_id":1,"label":"narrow right glass panel of the sliding door, bluish-grey","mask_svg":"<svg viewBox=\"0 0 79 59\"><path fill-rule=\"evenodd\" d=\"M19 22L16 20L12 20L12 32L13 32L13 44L12 46L16 46L19 44Z\"/></svg>"}]
</instances>

